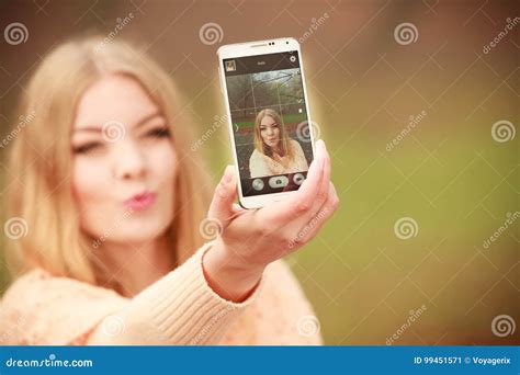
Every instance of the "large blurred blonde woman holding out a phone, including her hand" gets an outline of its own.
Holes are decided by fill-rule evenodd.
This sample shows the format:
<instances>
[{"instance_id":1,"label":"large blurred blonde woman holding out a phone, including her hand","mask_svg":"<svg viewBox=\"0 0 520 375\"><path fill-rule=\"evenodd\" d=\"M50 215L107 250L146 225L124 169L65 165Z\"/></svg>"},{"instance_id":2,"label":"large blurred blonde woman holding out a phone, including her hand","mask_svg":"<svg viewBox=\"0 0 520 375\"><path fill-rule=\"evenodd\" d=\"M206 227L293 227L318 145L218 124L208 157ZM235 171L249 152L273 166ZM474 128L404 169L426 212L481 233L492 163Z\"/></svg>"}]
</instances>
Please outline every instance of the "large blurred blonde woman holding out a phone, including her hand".
<instances>
[{"instance_id":1,"label":"large blurred blonde woman holding out a phone, including her hand","mask_svg":"<svg viewBox=\"0 0 520 375\"><path fill-rule=\"evenodd\" d=\"M115 41L68 42L36 69L10 145L1 344L321 342L279 259L338 206L325 145L294 198L241 209L228 167L210 204L177 96ZM218 236L203 245L206 225Z\"/></svg>"}]
</instances>

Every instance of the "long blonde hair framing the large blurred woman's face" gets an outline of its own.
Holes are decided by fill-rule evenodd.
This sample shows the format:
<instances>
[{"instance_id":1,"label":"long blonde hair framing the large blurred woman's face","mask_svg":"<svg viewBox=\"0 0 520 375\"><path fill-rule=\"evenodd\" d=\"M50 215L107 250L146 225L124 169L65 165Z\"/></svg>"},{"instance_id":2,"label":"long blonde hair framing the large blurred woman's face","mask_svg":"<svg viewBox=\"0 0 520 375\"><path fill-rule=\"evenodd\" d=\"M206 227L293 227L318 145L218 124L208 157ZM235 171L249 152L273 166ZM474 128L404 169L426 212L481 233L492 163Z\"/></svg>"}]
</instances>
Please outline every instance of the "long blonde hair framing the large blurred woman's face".
<instances>
[{"instance_id":1,"label":"long blonde hair framing the large blurred woman's face","mask_svg":"<svg viewBox=\"0 0 520 375\"><path fill-rule=\"evenodd\" d=\"M10 240L7 253L12 275L43 268L58 275L99 283L92 239L79 224L71 189L70 136L76 106L86 89L104 75L137 80L158 105L178 152L174 218L167 236L172 259L182 263L203 242L197 228L206 215L210 184L201 170L190 121L179 105L170 77L151 59L123 42L87 37L67 42L39 65L23 93L20 114L34 114L13 140L8 216L25 221L26 236ZM188 157L184 157L190 152ZM191 195L190 195L191 193Z\"/></svg>"}]
</instances>

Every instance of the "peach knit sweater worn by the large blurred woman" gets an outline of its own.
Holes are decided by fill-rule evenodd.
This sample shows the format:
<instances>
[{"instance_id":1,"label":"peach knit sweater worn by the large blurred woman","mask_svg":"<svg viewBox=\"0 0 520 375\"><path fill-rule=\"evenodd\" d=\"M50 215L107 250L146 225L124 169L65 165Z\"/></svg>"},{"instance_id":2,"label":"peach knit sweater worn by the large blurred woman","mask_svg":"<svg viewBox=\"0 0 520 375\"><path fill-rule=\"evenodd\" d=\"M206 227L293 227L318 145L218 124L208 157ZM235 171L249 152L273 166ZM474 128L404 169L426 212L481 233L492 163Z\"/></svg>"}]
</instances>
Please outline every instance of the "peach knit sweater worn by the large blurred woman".
<instances>
[{"instance_id":1,"label":"peach knit sweater worn by the large blurred woman","mask_svg":"<svg viewBox=\"0 0 520 375\"><path fill-rule=\"evenodd\" d=\"M319 332L298 330L314 312L282 261L237 304L207 285L202 257L211 245L133 298L33 270L0 302L0 344L321 344Z\"/></svg>"}]
</instances>

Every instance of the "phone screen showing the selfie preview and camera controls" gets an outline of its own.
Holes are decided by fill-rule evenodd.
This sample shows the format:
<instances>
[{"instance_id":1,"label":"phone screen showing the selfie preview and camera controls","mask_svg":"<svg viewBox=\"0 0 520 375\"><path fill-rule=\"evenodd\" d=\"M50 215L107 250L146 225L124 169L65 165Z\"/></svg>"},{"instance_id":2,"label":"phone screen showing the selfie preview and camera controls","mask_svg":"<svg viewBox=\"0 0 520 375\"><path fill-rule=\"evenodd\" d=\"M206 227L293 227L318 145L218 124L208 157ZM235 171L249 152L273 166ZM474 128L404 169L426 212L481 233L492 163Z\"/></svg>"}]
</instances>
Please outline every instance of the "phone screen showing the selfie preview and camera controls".
<instances>
[{"instance_id":1,"label":"phone screen showing the selfie preview and camera controls","mask_svg":"<svg viewBox=\"0 0 520 375\"><path fill-rule=\"evenodd\" d=\"M244 196L297 190L313 158L297 52L224 69Z\"/></svg>"}]
</instances>

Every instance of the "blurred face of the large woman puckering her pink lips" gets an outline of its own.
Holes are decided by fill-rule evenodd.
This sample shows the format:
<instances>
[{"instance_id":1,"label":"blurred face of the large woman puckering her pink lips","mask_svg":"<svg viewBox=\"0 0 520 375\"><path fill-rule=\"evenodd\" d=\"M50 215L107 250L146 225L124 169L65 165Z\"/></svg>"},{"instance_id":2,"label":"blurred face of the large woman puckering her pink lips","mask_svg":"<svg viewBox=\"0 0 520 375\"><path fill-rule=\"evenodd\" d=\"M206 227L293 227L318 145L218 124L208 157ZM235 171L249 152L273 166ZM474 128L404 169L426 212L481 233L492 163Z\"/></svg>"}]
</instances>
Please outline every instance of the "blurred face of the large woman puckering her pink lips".
<instances>
[{"instance_id":1,"label":"blurred face of the large woman puckering her pink lips","mask_svg":"<svg viewBox=\"0 0 520 375\"><path fill-rule=\"evenodd\" d=\"M173 218L177 156L168 124L140 84L108 76L81 96L72 128L81 228L101 242L148 242Z\"/></svg>"}]
</instances>

